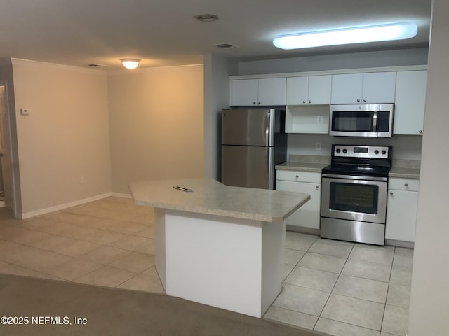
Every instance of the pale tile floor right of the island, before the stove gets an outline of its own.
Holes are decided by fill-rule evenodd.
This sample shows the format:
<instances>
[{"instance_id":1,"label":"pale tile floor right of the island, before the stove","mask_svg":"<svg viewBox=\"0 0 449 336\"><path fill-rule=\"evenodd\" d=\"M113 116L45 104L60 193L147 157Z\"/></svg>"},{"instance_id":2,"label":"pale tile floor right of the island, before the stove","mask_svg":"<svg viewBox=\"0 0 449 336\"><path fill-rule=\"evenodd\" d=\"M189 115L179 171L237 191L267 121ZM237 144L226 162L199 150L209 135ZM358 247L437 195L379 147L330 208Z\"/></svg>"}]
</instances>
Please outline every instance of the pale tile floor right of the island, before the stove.
<instances>
[{"instance_id":1,"label":"pale tile floor right of the island, before the stove","mask_svg":"<svg viewBox=\"0 0 449 336\"><path fill-rule=\"evenodd\" d=\"M406 335L413 250L286 233L282 292L264 318L337 336Z\"/></svg>"}]
</instances>

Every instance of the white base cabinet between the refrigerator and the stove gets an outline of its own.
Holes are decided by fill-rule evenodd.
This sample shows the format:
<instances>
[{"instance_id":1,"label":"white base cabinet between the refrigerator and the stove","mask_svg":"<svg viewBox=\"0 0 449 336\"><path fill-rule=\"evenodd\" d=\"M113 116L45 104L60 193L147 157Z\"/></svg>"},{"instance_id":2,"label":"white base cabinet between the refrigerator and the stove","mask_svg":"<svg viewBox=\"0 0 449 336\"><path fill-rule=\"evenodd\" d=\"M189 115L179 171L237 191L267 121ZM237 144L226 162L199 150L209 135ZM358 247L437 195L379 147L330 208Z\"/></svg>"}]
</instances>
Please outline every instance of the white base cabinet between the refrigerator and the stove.
<instances>
[{"instance_id":1,"label":"white base cabinet between the refrigerator and the stove","mask_svg":"<svg viewBox=\"0 0 449 336\"><path fill-rule=\"evenodd\" d=\"M321 173L276 170L276 190L310 195L300 209L286 219L287 225L319 230L321 204Z\"/></svg>"}]
</instances>

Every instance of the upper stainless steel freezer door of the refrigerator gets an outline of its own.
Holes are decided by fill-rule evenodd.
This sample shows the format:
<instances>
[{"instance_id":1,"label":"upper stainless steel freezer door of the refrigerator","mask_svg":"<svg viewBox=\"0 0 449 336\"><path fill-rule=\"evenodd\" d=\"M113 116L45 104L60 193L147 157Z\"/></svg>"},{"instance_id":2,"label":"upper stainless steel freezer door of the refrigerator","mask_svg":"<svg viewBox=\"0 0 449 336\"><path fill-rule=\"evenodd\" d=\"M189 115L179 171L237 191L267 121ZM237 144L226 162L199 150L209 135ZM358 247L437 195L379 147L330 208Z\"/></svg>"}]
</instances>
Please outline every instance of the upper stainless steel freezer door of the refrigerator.
<instances>
[{"instance_id":1,"label":"upper stainless steel freezer door of the refrigerator","mask_svg":"<svg viewBox=\"0 0 449 336\"><path fill-rule=\"evenodd\" d=\"M222 111L222 144L273 146L274 110L231 109Z\"/></svg>"}]
</instances>

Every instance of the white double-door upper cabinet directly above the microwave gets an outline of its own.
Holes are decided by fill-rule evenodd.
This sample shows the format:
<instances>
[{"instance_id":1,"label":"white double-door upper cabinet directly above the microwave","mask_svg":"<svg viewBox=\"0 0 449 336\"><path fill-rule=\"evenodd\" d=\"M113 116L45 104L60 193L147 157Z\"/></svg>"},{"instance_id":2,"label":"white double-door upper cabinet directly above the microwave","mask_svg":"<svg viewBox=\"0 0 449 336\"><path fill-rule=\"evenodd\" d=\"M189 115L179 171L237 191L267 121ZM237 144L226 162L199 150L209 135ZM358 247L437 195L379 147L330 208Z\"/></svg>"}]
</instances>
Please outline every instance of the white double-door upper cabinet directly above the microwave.
<instances>
[{"instance_id":1,"label":"white double-door upper cabinet directly above the microwave","mask_svg":"<svg viewBox=\"0 0 449 336\"><path fill-rule=\"evenodd\" d=\"M331 104L393 103L396 71L332 76Z\"/></svg>"}]
</instances>

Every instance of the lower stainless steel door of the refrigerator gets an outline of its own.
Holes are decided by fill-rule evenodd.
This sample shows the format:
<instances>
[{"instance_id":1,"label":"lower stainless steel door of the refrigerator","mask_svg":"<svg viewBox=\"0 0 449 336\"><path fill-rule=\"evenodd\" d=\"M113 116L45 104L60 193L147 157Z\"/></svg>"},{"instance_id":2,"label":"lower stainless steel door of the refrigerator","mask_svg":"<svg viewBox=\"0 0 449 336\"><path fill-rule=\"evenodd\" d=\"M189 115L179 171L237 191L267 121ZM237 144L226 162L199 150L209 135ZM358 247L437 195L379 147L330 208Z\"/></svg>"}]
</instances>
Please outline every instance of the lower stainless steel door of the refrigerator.
<instances>
[{"instance_id":1,"label":"lower stainless steel door of the refrigerator","mask_svg":"<svg viewBox=\"0 0 449 336\"><path fill-rule=\"evenodd\" d=\"M273 189L273 147L222 146L222 183Z\"/></svg>"}]
</instances>

